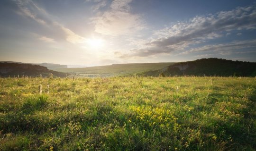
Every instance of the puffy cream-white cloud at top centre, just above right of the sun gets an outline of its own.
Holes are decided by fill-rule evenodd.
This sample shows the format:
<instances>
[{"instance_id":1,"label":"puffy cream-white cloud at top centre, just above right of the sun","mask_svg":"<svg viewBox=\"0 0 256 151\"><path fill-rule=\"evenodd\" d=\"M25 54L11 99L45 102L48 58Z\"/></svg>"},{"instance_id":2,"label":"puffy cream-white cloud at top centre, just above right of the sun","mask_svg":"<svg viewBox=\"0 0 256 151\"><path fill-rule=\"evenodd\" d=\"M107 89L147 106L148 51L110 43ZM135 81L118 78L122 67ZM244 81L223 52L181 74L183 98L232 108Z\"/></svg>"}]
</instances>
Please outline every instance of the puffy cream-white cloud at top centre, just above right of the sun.
<instances>
[{"instance_id":1,"label":"puffy cream-white cloud at top centre, just above right of the sun","mask_svg":"<svg viewBox=\"0 0 256 151\"><path fill-rule=\"evenodd\" d=\"M144 28L141 16L132 14L129 3L132 0L113 0L110 9L92 18L95 32L106 35L133 34Z\"/></svg>"}]
</instances>

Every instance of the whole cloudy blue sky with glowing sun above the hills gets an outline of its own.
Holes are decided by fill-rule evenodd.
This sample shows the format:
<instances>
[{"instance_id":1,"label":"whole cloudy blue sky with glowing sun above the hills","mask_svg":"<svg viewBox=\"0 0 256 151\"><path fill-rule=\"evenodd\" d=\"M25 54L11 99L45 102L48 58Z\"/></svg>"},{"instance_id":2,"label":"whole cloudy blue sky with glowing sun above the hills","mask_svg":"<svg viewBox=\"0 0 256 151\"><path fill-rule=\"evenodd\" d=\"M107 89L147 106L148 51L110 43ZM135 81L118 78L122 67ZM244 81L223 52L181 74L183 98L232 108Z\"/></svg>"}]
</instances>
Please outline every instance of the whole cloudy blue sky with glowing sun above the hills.
<instances>
[{"instance_id":1,"label":"whole cloudy blue sky with glowing sun above the hills","mask_svg":"<svg viewBox=\"0 0 256 151\"><path fill-rule=\"evenodd\" d=\"M0 0L0 61L256 62L255 0Z\"/></svg>"}]
</instances>

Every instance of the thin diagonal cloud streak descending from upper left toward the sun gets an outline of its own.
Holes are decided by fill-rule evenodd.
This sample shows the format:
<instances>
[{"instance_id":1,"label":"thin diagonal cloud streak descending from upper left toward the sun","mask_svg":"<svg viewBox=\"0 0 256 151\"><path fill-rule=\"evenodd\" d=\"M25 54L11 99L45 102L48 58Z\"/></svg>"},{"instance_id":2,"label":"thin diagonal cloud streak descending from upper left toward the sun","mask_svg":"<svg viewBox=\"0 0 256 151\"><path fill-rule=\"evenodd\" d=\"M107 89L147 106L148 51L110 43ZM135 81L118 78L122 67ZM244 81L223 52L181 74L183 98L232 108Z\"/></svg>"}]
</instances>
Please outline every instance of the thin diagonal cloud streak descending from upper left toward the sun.
<instances>
[{"instance_id":1,"label":"thin diagonal cloud streak descending from upper left toward the sun","mask_svg":"<svg viewBox=\"0 0 256 151\"><path fill-rule=\"evenodd\" d=\"M85 38L75 34L71 29L64 27L64 25L56 22L54 17L46 12L43 8L37 6L32 0L15 0L18 5L18 14L22 16L27 16L34 19L37 23L45 26L51 26L51 28L57 28L62 31L65 35L65 40L73 44L85 42ZM50 42L47 37L41 37L42 41Z\"/></svg>"}]
</instances>

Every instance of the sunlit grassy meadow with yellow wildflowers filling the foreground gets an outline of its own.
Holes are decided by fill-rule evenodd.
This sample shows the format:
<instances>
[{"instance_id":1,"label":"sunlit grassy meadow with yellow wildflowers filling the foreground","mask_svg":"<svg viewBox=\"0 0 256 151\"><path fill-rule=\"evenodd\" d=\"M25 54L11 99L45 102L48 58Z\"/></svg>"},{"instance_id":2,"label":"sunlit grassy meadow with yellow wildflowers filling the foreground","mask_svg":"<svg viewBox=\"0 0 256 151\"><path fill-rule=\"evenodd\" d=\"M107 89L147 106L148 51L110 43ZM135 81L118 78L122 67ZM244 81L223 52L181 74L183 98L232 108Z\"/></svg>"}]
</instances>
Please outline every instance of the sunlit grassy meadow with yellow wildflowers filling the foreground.
<instances>
[{"instance_id":1,"label":"sunlit grassy meadow with yellow wildflowers filling the foreground","mask_svg":"<svg viewBox=\"0 0 256 151\"><path fill-rule=\"evenodd\" d=\"M255 78L0 79L1 151L255 149Z\"/></svg>"}]
</instances>

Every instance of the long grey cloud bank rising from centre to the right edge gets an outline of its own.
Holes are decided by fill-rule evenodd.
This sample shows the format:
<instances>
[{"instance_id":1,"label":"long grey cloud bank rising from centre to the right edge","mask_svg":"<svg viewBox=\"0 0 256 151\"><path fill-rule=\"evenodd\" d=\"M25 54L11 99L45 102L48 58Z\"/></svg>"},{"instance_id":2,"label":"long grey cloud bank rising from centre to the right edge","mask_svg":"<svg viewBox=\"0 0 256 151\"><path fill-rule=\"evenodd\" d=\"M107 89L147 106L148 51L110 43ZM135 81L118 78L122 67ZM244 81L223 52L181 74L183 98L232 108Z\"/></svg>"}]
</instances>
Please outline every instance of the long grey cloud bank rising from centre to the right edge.
<instances>
[{"instance_id":1,"label":"long grey cloud bank rising from centre to the right edge","mask_svg":"<svg viewBox=\"0 0 256 151\"><path fill-rule=\"evenodd\" d=\"M146 42L144 47L130 50L129 54L119 57L146 57L184 51L192 44L222 37L230 31L248 29L256 29L256 6L238 7L177 22L171 27L155 31L157 38Z\"/></svg>"}]
</instances>

